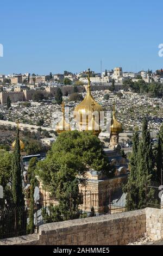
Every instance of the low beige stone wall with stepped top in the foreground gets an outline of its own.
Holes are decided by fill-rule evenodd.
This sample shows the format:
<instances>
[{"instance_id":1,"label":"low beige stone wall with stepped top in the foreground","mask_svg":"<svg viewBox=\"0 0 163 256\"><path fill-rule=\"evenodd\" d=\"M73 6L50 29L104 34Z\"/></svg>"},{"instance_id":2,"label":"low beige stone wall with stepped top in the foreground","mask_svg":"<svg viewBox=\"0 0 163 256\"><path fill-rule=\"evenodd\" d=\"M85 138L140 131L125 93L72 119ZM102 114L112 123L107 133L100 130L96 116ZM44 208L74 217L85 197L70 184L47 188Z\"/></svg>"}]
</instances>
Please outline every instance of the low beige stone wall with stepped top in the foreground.
<instances>
[{"instance_id":1,"label":"low beige stone wall with stepped top in the foreground","mask_svg":"<svg viewBox=\"0 0 163 256\"><path fill-rule=\"evenodd\" d=\"M153 240L163 239L162 210L146 208L43 224L39 234L2 239L0 245L127 245L145 233Z\"/></svg>"}]
</instances>

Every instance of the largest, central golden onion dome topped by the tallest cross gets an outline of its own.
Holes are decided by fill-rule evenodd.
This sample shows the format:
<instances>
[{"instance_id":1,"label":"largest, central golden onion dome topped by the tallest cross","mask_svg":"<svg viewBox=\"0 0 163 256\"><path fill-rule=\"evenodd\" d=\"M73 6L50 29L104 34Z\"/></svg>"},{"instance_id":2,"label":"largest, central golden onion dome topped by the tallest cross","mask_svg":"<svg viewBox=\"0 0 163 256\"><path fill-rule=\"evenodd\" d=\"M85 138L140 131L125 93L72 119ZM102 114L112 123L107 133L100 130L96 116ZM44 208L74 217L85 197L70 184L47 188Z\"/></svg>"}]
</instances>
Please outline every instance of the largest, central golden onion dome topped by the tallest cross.
<instances>
[{"instance_id":1,"label":"largest, central golden onion dome topped by the tallest cross","mask_svg":"<svg viewBox=\"0 0 163 256\"><path fill-rule=\"evenodd\" d=\"M98 113L98 120L97 115L95 117L95 123L99 123L100 120L100 112L103 111L103 108L101 105L99 105L92 97L91 94L91 88L90 88L90 74L91 71L88 69L87 71L87 78L88 78L88 86L87 86L87 94L84 98L84 100L76 106L74 109L74 117L77 120L77 123L80 126L85 126L84 130L93 130L92 129L92 113ZM97 126L97 125L96 125ZM99 126L99 125L98 125ZM98 127L97 133L99 134L100 128Z\"/></svg>"}]
</instances>

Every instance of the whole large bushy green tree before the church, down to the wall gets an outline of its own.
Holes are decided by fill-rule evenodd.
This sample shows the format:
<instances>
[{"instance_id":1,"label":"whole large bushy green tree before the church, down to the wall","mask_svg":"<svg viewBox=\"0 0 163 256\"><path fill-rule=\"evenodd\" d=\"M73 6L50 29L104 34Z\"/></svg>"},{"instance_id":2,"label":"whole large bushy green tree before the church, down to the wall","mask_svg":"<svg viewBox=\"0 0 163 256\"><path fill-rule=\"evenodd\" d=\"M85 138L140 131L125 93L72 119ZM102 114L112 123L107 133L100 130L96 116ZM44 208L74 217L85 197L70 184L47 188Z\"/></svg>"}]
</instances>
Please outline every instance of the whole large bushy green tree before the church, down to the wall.
<instances>
[{"instance_id":1,"label":"whole large bushy green tree before the church, down to the wall","mask_svg":"<svg viewBox=\"0 0 163 256\"><path fill-rule=\"evenodd\" d=\"M46 159L37 163L37 175L43 186L59 202L54 209L55 221L79 217L79 183L85 181L85 172L89 169L114 175L102 142L91 132L61 133Z\"/></svg>"}]
</instances>

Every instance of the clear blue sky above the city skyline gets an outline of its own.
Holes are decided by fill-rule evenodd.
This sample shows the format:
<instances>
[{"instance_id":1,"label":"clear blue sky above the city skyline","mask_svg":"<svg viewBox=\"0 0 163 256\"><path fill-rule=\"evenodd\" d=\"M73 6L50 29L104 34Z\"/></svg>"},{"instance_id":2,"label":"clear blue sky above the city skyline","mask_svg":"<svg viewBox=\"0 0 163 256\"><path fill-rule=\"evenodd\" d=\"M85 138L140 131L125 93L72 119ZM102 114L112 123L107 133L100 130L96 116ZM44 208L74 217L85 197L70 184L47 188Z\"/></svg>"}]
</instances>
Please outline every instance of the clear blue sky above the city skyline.
<instances>
[{"instance_id":1,"label":"clear blue sky above the city skyline","mask_svg":"<svg viewBox=\"0 0 163 256\"><path fill-rule=\"evenodd\" d=\"M163 1L1 2L0 74L163 68Z\"/></svg>"}]
</instances>

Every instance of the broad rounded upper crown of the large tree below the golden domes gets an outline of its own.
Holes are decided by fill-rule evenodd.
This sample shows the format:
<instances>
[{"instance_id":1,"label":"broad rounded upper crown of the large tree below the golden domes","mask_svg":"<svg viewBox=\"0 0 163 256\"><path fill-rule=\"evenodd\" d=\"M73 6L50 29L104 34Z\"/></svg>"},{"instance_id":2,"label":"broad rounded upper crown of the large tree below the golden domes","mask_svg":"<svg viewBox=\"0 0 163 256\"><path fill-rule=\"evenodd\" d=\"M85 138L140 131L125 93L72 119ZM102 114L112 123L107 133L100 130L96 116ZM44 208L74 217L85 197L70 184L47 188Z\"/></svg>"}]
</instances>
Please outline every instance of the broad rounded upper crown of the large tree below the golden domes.
<instances>
[{"instance_id":1,"label":"broad rounded upper crown of the large tree below the golden domes","mask_svg":"<svg viewBox=\"0 0 163 256\"><path fill-rule=\"evenodd\" d=\"M108 176L114 173L104 154L102 142L91 132L61 133L46 159L37 163L37 174L55 196L59 196L65 182L79 182L78 175L84 175L89 169Z\"/></svg>"}]
</instances>

